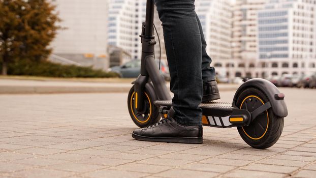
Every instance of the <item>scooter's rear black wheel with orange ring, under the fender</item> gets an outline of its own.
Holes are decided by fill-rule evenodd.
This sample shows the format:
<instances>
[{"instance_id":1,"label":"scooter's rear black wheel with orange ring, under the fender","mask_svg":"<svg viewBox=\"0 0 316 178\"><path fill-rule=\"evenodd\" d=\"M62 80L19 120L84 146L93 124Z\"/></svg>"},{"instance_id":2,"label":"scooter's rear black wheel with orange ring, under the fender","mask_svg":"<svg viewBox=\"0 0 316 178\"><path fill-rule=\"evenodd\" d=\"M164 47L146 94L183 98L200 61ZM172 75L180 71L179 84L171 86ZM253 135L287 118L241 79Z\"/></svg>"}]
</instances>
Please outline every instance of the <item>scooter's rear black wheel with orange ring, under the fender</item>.
<instances>
[{"instance_id":1,"label":"scooter's rear black wheel with orange ring, under the fender","mask_svg":"<svg viewBox=\"0 0 316 178\"><path fill-rule=\"evenodd\" d=\"M268 101L262 91L250 87L239 94L236 106L251 112ZM248 145L256 149L266 149L280 138L283 124L284 118L275 115L270 108L258 115L249 126L237 127L237 129L241 138Z\"/></svg>"}]
</instances>

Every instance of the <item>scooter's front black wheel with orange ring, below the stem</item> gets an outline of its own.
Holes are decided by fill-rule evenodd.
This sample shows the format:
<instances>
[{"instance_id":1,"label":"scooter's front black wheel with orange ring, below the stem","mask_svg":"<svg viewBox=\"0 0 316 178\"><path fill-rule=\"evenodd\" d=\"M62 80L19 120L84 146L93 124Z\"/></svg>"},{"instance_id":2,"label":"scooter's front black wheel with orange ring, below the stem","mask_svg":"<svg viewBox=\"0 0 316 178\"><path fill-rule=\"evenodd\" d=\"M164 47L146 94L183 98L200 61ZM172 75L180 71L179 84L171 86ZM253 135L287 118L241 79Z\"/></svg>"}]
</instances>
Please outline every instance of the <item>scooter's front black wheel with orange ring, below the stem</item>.
<instances>
[{"instance_id":1,"label":"scooter's front black wheel with orange ring, below the stem","mask_svg":"<svg viewBox=\"0 0 316 178\"><path fill-rule=\"evenodd\" d=\"M146 84L143 95L144 109L142 112L137 111L135 108L134 85L132 86L128 96L128 108L130 116L133 122L140 128L151 126L159 122L161 118L159 109L153 104L153 101L157 99L153 88L149 88L149 86Z\"/></svg>"}]
</instances>

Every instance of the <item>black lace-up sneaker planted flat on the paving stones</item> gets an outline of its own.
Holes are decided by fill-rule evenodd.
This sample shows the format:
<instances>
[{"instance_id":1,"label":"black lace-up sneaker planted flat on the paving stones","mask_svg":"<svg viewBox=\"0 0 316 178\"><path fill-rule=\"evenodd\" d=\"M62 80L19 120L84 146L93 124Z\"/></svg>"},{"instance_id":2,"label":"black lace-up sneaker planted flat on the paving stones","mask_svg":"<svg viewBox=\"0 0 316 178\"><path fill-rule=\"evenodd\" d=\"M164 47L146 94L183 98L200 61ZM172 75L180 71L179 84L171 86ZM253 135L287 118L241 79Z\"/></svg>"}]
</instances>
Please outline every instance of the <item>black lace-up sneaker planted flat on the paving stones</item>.
<instances>
[{"instance_id":1,"label":"black lace-up sneaker planted flat on the paving stones","mask_svg":"<svg viewBox=\"0 0 316 178\"><path fill-rule=\"evenodd\" d=\"M152 126L134 130L132 137L142 141L203 143L203 128L182 126L173 118L164 118Z\"/></svg>"}]
</instances>

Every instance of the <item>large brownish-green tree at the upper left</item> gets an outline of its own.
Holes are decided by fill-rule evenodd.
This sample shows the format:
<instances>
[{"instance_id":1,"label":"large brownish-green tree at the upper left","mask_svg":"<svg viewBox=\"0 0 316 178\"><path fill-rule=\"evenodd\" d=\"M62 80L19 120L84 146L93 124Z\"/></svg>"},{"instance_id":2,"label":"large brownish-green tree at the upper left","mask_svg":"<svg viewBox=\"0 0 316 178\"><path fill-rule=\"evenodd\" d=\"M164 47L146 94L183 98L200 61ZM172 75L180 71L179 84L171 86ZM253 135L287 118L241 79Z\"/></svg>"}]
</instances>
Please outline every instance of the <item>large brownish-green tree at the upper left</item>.
<instances>
[{"instance_id":1,"label":"large brownish-green tree at the upper left","mask_svg":"<svg viewBox=\"0 0 316 178\"><path fill-rule=\"evenodd\" d=\"M40 62L50 54L48 47L60 28L55 6L47 0L0 0L0 61L7 75L11 62Z\"/></svg>"}]
</instances>

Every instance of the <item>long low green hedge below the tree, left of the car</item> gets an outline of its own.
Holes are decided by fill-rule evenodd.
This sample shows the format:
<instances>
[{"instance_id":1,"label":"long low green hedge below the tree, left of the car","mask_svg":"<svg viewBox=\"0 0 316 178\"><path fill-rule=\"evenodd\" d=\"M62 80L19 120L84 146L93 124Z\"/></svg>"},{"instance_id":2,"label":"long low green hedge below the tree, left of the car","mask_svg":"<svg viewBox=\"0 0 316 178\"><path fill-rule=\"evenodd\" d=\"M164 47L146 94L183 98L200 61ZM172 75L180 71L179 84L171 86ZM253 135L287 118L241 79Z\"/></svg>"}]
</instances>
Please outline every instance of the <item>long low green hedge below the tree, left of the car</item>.
<instances>
[{"instance_id":1,"label":"long low green hedge below the tree, left of the car","mask_svg":"<svg viewBox=\"0 0 316 178\"><path fill-rule=\"evenodd\" d=\"M2 64L0 63L0 69L1 67ZM118 77L116 73L95 70L91 67L60 65L48 61L31 62L28 60L10 63L8 74L44 77Z\"/></svg>"}]
</instances>

